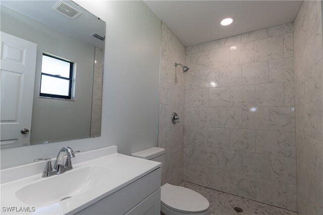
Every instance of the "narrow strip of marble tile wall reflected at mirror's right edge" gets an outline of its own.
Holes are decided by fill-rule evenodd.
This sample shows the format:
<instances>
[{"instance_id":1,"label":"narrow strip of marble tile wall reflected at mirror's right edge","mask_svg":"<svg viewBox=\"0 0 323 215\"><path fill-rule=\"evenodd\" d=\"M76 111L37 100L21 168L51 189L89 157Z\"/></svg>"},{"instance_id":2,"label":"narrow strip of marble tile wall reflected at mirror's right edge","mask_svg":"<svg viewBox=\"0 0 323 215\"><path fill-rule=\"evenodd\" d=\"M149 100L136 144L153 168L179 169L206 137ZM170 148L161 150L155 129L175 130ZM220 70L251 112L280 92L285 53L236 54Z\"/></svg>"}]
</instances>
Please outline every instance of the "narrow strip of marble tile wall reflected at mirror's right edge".
<instances>
[{"instance_id":1,"label":"narrow strip of marble tile wall reflected at mirror's right edge","mask_svg":"<svg viewBox=\"0 0 323 215\"><path fill-rule=\"evenodd\" d=\"M95 47L91 112L91 137L101 135L103 58L103 49Z\"/></svg>"}]
</instances>

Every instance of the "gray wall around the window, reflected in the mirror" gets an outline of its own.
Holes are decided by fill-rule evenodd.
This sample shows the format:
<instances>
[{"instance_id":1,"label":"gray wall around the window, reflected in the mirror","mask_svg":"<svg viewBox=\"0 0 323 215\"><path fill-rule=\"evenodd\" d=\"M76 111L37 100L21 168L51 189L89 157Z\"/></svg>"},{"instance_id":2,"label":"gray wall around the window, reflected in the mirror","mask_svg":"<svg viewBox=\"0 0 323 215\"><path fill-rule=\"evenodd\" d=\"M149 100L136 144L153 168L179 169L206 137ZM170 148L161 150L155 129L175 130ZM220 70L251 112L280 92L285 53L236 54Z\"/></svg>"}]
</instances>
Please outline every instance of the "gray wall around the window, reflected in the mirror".
<instances>
[{"instance_id":1,"label":"gray wall around the window, reflected in the mirror","mask_svg":"<svg viewBox=\"0 0 323 215\"><path fill-rule=\"evenodd\" d=\"M95 47L6 7L1 7L1 31L37 44L31 145L89 137ZM43 52L75 63L74 101L39 97Z\"/></svg>"}]
</instances>

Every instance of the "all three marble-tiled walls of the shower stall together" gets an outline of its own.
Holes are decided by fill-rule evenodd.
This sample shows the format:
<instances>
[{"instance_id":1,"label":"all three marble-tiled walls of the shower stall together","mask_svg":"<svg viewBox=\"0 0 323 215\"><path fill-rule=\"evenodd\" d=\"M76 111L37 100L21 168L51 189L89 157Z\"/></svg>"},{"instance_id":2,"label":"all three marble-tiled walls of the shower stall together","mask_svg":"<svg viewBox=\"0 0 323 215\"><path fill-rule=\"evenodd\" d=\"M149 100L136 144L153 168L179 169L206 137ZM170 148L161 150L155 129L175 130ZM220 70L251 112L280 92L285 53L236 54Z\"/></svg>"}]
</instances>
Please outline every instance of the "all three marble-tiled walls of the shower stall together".
<instances>
[{"instance_id":1,"label":"all three marble-tiled walls of the shower stall together","mask_svg":"<svg viewBox=\"0 0 323 215\"><path fill-rule=\"evenodd\" d=\"M158 146L166 149L163 184L184 180L302 214L322 213L320 7L319 1L304 1L295 23L186 51L162 23ZM189 71L183 74L175 62ZM179 124L172 124L173 112Z\"/></svg>"}]
</instances>

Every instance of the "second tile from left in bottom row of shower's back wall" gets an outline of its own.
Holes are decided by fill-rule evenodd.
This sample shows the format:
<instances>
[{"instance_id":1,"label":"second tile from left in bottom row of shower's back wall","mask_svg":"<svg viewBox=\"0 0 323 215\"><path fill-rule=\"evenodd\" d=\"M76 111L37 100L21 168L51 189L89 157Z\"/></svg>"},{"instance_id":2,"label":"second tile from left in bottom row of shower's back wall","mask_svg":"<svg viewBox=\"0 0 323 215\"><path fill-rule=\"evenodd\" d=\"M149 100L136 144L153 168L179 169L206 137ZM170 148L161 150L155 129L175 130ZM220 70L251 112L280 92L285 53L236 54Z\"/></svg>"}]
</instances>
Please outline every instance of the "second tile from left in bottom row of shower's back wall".
<instances>
[{"instance_id":1,"label":"second tile from left in bottom row of shower's back wall","mask_svg":"<svg viewBox=\"0 0 323 215\"><path fill-rule=\"evenodd\" d=\"M230 192L230 172L222 169L208 168L207 184L212 189Z\"/></svg>"}]
</instances>

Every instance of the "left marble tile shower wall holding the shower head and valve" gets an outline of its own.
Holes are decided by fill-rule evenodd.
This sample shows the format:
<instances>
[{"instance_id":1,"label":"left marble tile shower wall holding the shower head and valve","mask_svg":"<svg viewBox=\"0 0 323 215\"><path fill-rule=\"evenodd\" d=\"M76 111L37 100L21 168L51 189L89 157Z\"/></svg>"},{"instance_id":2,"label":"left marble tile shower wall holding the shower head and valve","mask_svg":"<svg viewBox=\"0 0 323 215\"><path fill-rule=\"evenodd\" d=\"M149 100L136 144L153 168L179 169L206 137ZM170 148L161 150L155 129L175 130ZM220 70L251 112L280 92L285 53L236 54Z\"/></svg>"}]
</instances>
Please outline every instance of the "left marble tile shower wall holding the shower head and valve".
<instances>
[{"instance_id":1,"label":"left marble tile shower wall holding the shower head and valve","mask_svg":"<svg viewBox=\"0 0 323 215\"><path fill-rule=\"evenodd\" d=\"M158 147L166 149L161 183L179 185L183 181L184 155L184 94L185 76L175 62L186 63L185 46L161 23ZM173 125L172 113L180 123Z\"/></svg>"}]
</instances>

